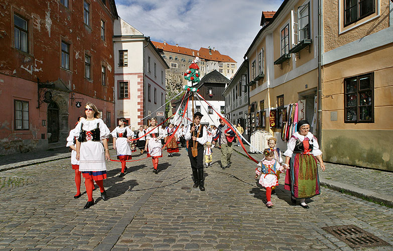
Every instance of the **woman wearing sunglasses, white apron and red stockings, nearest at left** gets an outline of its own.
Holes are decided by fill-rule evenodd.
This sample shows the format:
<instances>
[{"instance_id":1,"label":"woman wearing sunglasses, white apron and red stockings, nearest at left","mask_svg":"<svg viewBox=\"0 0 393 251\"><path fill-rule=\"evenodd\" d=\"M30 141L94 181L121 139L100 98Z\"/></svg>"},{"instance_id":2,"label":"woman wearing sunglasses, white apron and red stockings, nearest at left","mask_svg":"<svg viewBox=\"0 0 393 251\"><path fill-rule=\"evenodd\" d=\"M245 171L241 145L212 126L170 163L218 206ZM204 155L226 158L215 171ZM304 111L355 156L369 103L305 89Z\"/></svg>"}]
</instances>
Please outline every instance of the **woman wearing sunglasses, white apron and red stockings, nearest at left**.
<instances>
[{"instance_id":1,"label":"woman wearing sunglasses, white apron and red stockings, nearest at left","mask_svg":"<svg viewBox=\"0 0 393 251\"><path fill-rule=\"evenodd\" d=\"M75 133L79 135L76 141L76 159L80 161L79 171L85 178L88 201L84 209L87 209L94 205L93 180L99 186L102 199L106 200L103 180L106 179L105 159L110 160L107 139L110 131L99 118L99 111L94 104L86 103L85 114L86 120L76 126Z\"/></svg>"}]
</instances>

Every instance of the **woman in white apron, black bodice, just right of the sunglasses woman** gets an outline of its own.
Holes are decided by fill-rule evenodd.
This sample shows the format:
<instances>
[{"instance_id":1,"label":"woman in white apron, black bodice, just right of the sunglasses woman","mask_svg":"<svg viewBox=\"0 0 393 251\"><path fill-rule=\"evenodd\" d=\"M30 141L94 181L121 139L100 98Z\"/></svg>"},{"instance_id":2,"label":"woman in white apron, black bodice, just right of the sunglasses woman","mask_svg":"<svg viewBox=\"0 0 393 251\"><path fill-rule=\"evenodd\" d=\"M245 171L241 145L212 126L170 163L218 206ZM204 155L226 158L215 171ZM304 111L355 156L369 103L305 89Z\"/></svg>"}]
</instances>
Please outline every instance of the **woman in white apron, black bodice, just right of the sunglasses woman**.
<instances>
[{"instance_id":1,"label":"woman in white apron, black bodice, just right of the sunglasses woman","mask_svg":"<svg viewBox=\"0 0 393 251\"><path fill-rule=\"evenodd\" d=\"M123 117L119 118L119 126L116 127L111 135L113 137L113 149L117 152L117 159L121 161L120 177L125 175L127 171L125 161L132 159L132 151L128 144L130 139L133 139L134 133L126 127L127 120Z\"/></svg>"}]
</instances>

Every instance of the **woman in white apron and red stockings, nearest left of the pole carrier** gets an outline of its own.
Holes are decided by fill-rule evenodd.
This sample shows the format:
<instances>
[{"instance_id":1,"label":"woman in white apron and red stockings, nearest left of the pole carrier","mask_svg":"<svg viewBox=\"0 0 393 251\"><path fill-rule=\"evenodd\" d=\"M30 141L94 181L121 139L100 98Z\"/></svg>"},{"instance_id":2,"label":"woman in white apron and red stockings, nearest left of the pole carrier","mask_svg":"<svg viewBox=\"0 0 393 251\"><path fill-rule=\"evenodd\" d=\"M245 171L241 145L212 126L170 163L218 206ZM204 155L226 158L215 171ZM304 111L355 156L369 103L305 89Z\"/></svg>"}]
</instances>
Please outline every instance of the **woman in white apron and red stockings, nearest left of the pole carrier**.
<instances>
[{"instance_id":1,"label":"woman in white apron and red stockings, nearest left of the pole carrier","mask_svg":"<svg viewBox=\"0 0 393 251\"><path fill-rule=\"evenodd\" d=\"M161 127L156 127L157 126L157 118L152 117L150 119L150 128L148 128L148 132L150 130L153 130L146 136L146 145L145 145L145 151L148 152L148 157L152 157L153 161L153 173L157 174L158 170L158 158L163 157L162 154L162 144L161 144L161 139L165 137L165 131Z\"/></svg>"}]
</instances>

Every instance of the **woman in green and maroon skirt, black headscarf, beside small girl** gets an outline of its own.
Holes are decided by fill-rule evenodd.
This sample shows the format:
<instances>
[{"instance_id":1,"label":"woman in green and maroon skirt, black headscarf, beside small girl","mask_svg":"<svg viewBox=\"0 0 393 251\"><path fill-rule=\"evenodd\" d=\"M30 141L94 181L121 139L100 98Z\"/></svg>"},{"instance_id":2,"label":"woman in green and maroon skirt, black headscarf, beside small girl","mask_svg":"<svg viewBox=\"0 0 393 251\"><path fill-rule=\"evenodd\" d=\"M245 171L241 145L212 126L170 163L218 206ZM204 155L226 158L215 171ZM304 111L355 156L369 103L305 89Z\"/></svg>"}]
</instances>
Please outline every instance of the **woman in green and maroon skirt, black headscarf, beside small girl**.
<instances>
[{"instance_id":1,"label":"woman in green and maroon skirt, black headscarf, beside small girl","mask_svg":"<svg viewBox=\"0 0 393 251\"><path fill-rule=\"evenodd\" d=\"M325 171L317 138L309 131L309 122L300 120L297 132L288 141L288 150L284 153L285 165L290 167L290 172L285 176L284 188L291 191L294 204L300 198L303 208L309 208L306 198L320 194L317 160L322 171Z\"/></svg>"}]
</instances>

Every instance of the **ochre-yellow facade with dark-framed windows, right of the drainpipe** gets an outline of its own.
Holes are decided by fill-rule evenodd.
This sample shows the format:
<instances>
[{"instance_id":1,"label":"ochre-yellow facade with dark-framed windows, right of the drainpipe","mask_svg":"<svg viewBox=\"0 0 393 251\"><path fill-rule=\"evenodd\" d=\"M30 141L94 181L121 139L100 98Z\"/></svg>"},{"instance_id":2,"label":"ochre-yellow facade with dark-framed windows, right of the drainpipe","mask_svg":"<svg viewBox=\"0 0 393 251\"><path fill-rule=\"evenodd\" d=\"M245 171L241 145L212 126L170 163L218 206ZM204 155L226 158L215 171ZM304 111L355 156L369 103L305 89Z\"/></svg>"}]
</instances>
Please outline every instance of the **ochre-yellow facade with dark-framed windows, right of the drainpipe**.
<instances>
[{"instance_id":1,"label":"ochre-yellow facade with dark-framed windows, right of the drainpipe","mask_svg":"<svg viewBox=\"0 0 393 251\"><path fill-rule=\"evenodd\" d=\"M345 4L323 2L323 159L393 171L393 3Z\"/></svg>"}]
</instances>

